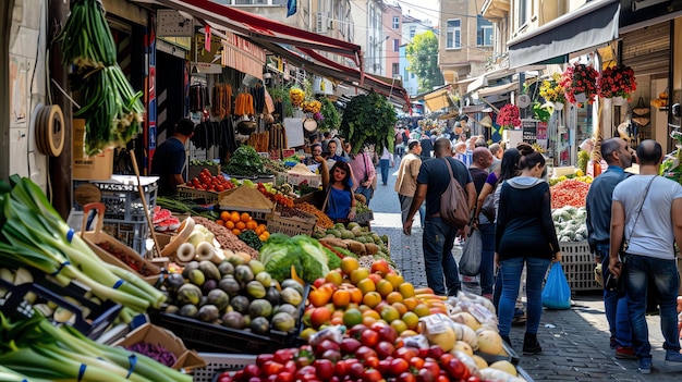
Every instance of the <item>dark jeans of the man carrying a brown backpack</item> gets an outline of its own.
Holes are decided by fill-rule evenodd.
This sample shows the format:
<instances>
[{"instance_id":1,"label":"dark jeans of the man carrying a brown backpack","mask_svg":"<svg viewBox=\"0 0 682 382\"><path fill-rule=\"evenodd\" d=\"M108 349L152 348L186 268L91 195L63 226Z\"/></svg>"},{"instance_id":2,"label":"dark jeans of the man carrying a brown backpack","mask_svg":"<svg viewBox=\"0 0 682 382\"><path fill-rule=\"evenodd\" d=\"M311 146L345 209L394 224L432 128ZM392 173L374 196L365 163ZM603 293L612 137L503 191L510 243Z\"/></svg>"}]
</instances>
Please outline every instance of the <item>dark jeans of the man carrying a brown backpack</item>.
<instances>
[{"instance_id":1,"label":"dark jeans of the man carrying a brown backpack","mask_svg":"<svg viewBox=\"0 0 682 382\"><path fill-rule=\"evenodd\" d=\"M452 257L452 246L458 230L446 224L439 217L428 217L424 224L422 247L426 282L437 295L454 296L462 286L458 264Z\"/></svg>"}]
</instances>

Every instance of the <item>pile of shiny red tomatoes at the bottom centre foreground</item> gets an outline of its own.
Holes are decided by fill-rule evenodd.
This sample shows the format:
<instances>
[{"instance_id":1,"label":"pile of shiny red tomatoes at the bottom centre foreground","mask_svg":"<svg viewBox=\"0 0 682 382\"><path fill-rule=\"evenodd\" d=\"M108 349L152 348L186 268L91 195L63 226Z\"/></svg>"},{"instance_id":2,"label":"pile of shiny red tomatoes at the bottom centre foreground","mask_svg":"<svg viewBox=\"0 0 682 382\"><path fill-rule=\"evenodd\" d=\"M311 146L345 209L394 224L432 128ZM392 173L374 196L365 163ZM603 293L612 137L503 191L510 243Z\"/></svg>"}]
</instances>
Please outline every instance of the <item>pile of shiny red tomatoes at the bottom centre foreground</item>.
<instances>
[{"instance_id":1,"label":"pile of shiny red tomatoes at the bottom centre foreground","mask_svg":"<svg viewBox=\"0 0 682 382\"><path fill-rule=\"evenodd\" d=\"M439 346L404 346L390 325L376 322L351 328L341 343L324 340L316 345L263 354L256 365L234 374L223 372L218 382L478 382L456 356ZM475 370L475 366L473 366Z\"/></svg>"}]
</instances>

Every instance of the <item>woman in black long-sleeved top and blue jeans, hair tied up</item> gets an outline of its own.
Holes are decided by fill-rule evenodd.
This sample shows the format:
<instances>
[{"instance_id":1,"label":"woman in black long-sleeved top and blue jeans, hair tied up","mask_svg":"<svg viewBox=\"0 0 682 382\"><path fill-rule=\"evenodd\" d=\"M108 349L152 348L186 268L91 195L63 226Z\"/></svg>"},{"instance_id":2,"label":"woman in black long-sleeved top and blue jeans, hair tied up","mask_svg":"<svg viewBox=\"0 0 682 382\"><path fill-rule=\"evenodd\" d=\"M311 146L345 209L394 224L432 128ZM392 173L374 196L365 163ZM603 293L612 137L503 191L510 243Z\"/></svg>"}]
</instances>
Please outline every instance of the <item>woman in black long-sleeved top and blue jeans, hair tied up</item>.
<instances>
[{"instance_id":1,"label":"woman in black long-sleeved top and blue jeans, hair tied up","mask_svg":"<svg viewBox=\"0 0 682 382\"><path fill-rule=\"evenodd\" d=\"M528 320L523 353L536 354L541 352L537 329L543 315L543 282L550 262L561 260L561 252L551 220L549 185L540 178L545 158L529 145L520 145L519 150L521 174L504 182L498 207L495 262L502 274L498 319L500 335L510 343L514 303L525 263Z\"/></svg>"}]
</instances>

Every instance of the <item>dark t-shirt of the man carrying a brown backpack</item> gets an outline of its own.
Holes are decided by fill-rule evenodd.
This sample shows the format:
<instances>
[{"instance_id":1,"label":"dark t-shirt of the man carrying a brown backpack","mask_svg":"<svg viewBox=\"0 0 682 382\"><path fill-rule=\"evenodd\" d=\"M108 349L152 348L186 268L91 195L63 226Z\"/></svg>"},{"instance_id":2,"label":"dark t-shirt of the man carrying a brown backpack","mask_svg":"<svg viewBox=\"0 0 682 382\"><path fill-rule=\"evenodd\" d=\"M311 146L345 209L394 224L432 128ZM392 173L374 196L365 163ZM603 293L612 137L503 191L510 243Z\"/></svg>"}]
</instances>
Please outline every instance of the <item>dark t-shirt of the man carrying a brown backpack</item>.
<instances>
[{"instance_id":1,"label":"dark t-shirt of the man carrying a brown backpack","mask_svg":"<svg viewBox=\"0 0 682 382\"><path fill-rule=\"evenodd\" d=\"M462 188L466 189L466 185L472 181L468 169L461 161L447 157L452 165L452 175L460 182ZM442 158L434 158L422 162L419 174L417 175L417 184L426 184L426 215L430 217L440 212L440 196L450 184L450 172Z\"/></svg>"}]
</instances>

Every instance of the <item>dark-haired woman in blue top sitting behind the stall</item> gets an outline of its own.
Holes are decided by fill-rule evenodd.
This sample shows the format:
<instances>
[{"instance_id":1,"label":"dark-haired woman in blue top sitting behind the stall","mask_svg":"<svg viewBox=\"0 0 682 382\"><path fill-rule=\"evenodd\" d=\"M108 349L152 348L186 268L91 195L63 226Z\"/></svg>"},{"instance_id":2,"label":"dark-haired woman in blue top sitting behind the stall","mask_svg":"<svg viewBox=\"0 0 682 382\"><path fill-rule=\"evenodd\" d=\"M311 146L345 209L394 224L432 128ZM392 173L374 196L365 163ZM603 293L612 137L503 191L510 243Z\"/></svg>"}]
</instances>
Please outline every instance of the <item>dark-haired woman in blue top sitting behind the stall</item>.
<instances>
[{"instance_id":1,"label":"dark-haired woman in blue top sitting behind the stall","mask_svg":"<svg viewBox=\"0 0 682 382\"><path fill-rule=\"evenodd\" d=\"M355 219L355 196L352 190L351 168L349 163L337 161L329 170L330 185L322 206L334 223L348 223Z\"/></svg>"}]
</instances>

